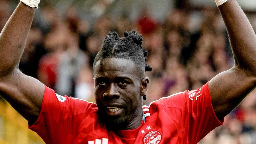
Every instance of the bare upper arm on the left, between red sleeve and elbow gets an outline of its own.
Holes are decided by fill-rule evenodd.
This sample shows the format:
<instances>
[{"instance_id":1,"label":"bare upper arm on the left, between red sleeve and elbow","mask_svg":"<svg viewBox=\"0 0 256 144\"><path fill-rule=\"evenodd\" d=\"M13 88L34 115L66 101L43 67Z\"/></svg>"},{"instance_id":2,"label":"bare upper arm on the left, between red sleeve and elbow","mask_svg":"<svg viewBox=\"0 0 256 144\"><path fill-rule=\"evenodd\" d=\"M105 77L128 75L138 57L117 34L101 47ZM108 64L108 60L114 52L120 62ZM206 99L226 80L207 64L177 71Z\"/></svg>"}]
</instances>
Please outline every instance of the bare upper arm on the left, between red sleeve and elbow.
<instances>
[{"instance_id":1,"label":"bare upper arm on the left, between red sleeve and elbow","mask_svg":"<svg viewBox=\"0 0 256 144\"><path fill-rule=\"evenodd\" d=\"M37 79L16 70L0 78L0 95L30 123L39 116L44 85Z\"/></svg>"}]
</instances>

